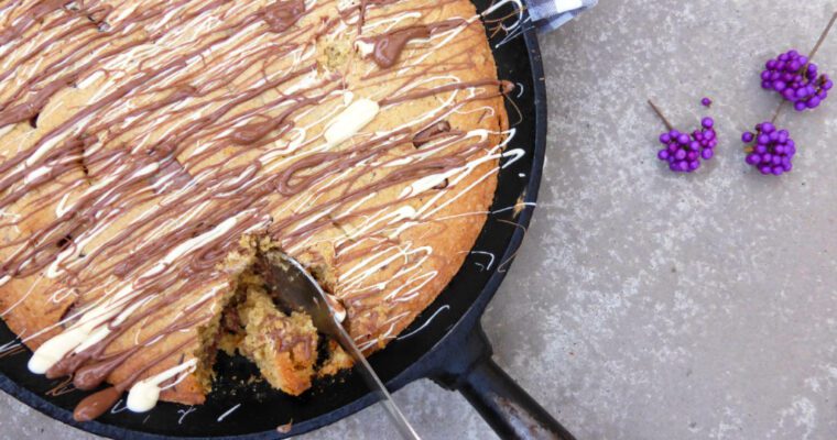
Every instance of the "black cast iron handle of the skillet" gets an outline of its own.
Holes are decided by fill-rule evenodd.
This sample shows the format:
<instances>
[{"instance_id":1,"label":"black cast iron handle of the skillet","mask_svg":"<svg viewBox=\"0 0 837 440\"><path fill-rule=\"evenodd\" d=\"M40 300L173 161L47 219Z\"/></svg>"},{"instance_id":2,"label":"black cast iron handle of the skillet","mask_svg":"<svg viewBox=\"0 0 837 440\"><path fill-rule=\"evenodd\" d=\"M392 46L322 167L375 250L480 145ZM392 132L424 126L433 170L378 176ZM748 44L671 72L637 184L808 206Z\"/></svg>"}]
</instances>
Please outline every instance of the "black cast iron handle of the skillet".
<instances>
[{"instance_id":1,"label":"black cast iron handle of the skillet","mask_svg":"<svg viewBox=\"0 0 837 440\"><path fill-rule=\"evenodd\" d=\"M453 350L434 381L460 392L502 439L575 440L555 418L491 360L491 345L477 326Z\"/></svg>"}]
</instances>

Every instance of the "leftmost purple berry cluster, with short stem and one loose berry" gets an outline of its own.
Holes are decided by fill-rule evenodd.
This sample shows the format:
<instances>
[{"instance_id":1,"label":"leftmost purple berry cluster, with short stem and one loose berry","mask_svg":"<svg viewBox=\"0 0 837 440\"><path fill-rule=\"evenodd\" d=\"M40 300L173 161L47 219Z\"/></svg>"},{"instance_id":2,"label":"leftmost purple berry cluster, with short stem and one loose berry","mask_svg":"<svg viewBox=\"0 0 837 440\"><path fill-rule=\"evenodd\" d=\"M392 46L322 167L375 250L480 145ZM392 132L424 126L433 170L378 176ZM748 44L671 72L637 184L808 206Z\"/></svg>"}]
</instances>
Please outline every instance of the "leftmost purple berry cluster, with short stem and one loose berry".
<instances>
[{"instance_id":1,"label":"leftmost purple berry cluster, with short stem and one loose berry","mask_svg":"<svg viewBox=\"0 0 837 440\"><path fill-rule=\"evenodd\" d=\"M700 160L708 161L715 155L718 139L715 133L715 121L704 118L702 129L692 135L671 130L660 135L660 143L665 145L656 156L668 163L668 168L677 173L692 173L700 167Z\"/></svg>"}]
</instances>

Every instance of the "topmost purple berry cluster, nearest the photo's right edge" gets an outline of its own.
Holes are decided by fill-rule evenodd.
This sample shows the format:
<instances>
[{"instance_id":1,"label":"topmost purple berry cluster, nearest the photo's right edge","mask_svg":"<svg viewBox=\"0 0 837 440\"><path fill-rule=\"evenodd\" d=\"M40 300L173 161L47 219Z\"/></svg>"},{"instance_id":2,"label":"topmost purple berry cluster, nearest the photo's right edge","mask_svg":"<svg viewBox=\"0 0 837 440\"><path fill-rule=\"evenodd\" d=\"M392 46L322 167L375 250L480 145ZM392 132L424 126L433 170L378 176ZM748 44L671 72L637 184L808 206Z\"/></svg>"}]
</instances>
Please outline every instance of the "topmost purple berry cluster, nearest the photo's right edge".
<instances>
[{"instance_id":1,"label":"topmost purple berry cluster, nearest the photo's right edge","mask_svg":"<svg viewBox=\"0 0 837 440\"><path fill-rule=\"evenodd\" d=\"M826 74L819 75L817 65L808 57L791 50L770 59L761 73L761 87L775 90L793 102L796 111L817 108L827 97L834 81Z\"/></svg>"}]
</instances>

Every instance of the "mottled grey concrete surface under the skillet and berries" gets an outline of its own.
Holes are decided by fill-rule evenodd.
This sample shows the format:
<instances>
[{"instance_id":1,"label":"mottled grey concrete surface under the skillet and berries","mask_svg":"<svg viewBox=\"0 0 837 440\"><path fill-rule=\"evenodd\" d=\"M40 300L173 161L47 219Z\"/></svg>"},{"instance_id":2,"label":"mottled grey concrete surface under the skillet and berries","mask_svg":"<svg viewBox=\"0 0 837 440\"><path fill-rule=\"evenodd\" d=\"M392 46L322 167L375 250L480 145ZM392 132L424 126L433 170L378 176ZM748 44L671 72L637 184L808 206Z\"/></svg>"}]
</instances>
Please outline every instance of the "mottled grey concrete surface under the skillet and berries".
<instances>
[{"instance_id":1,"label":"mottled grey concrete surface under the skillet and berries","mask_svg":"<svg viewBox=\"0 0 837 440\"><path fill-rule=\"evenodd\" d=\"M778 102L763 61L809 48L835 9L604 0L542 38L543 193L485 324L498 363L579 440L837 438L837 97L781 118L801 150L790 175L757 175L738 141ZM837 33L817 61L837 73ZM716 117L720 156L665 170L648 97L683 128ZM430 382L396 397L427 439L492 437ZM89 438L0 406L3 438ZM391 433L370 408L306 438Z\"/></svg>"}]
</instances>

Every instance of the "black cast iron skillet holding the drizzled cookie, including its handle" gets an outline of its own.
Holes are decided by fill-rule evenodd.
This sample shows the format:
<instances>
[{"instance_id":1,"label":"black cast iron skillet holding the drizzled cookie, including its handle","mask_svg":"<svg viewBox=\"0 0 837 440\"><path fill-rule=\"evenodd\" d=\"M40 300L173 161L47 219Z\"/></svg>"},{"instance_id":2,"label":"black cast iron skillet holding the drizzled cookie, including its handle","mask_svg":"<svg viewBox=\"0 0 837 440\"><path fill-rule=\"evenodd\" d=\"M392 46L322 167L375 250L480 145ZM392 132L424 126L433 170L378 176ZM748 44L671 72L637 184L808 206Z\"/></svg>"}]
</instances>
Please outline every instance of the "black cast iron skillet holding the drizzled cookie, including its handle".
<instances>
[{"instance_id":1,"label":"black cast iron skillet holding the drizzled cookie, including its handle","mask_svg":"<svg viewBox=\"0 0 837 440\"><path fill-rule=\"evenodd\" d=\"M475 0L485 10L490 0ZM492 16L512 12L497 11ZM370 361L391 389L430 377L459 391L503 438L572 439L537 403L491 361L491 345L479 323L488 301L523 240L537 196L546 141L546 100L537 40L528 21L512 35L491 37L500 78L517 82L507 103L515 130L508 148L525 155L503 164L489 216L465 265L399 340ZM518 111L519 108L521 111ZM522 116L521 116L522 113ZM515 213L512 207L529 202ZM0 346L14 334L0 323ZM14 353L14 352L11 352ZM315 384L301 397L273 392L264 383L248 383L253 366L238 358L221 356L218 389L205 405L160 404L146 414L132 414L120 400L93 422L78 424L72 410L87 393L46 381L26 371L29 352L0 356L0 387L21 402L61 420L100 436L128 439L211 437L267 439L293 436L329 425L371 405L374 398L351 373ZM454 417L449 422L454 422ZM276 428L293 421L287 433ZM381 420L381 422L385 422Z\"/></svg>"}]
</instances>

